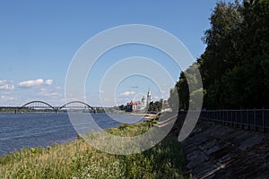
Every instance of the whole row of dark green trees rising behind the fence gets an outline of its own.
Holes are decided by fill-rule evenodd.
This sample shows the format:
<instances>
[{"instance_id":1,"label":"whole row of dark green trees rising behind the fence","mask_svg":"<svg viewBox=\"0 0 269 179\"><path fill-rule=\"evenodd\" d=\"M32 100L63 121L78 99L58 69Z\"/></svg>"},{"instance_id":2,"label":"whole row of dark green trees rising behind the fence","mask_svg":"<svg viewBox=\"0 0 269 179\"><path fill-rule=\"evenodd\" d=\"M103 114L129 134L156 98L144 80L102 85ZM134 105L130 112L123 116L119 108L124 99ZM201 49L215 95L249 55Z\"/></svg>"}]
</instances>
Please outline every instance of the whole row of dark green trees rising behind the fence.
<instances>
[{"instance_id":1,"label":"whole row of dark green trees rising behind the fence","mask_svg":"<svg viewBox=\"0 0 269 179\"><path fill-rule=\"evenodd\" d=\"M179 98L187 109L190 96L204 93L206 109L269 108L269 1L218 2L210 23L204 54L180 73L169 104ZM189 94L185 75L195 81L194 66L204 88Z\"/></svg>"}]
</instances>

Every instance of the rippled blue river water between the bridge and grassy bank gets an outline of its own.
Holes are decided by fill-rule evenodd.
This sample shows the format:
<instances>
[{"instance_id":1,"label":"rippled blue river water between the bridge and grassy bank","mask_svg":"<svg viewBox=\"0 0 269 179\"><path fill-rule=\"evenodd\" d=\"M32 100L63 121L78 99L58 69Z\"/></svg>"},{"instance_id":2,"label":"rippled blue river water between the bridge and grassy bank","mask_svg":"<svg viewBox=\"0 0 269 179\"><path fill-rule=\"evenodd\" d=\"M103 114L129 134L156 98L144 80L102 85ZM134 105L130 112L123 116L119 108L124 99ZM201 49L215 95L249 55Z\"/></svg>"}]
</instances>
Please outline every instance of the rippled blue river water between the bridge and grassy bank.
<instances>
[{"instance_id":1,"label":"rippled blue river water between the bridge and grassy bank","mask_svg":"<svg viewBox=\"0 0 269 179\"><path fill-rule=\"evenodd\" d=\"M143 121L141 116L114 114L76 114L77 122L70 121L67 113L0 113L0 156L15 149L47 147L54 143L65 143L76 139L77 132L90 132L91 122L82 116L91 115L101 129L117 127L120 122L135 123Z\"/></svg>"}]
</instances>

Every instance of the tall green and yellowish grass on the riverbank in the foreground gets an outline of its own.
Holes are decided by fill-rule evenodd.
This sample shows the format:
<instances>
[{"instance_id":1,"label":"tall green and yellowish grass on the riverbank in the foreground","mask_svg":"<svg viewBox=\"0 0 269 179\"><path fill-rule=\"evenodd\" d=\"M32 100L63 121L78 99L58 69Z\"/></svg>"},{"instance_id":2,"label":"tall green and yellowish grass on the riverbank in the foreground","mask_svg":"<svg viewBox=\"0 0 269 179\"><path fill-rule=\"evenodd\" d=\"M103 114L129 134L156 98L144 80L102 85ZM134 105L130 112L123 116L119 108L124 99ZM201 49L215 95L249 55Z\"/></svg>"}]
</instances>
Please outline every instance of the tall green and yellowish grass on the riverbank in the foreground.
<instances>
[{"instance_id":1,"label":"tall green and yellowish grass on the riverbank in the foreground","mask_svg":"<svg viewBox=\"0 0 269 179\"><path fill-rule=\"evenodd\" d=\"M108 132L134 136L154 123L123 124ZM0 166L0 178L183 178L185 157L174 138L165 138L152 149L128 156L93 149L80 139L15 151L1 157Z\"/></svg>"}]
</instances>

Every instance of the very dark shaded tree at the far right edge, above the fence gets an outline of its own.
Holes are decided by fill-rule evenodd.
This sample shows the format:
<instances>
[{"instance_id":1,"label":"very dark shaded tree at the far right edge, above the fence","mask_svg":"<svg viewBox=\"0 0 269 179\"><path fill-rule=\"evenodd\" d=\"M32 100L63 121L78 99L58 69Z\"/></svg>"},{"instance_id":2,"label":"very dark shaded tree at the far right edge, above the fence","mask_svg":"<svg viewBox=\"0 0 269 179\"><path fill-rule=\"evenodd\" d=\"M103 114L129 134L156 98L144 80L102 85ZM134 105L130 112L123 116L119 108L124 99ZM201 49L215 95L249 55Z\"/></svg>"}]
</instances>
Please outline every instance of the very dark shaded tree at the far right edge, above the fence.
<instances>
[{"instance_id":1,"label":"very dark shaded tree at the far right edge, above the fence","mask_svg":"<svg viewBox=\"0 0 269 179\"><path fill-rule=\"evenodd\" d=\"M239 9L238 58L241 64L222 77L223 95L231 107L269 107L269 5L268 1L244 1ZM266 100L267 99L267 100Z\"/></svg>"}]
</instances>

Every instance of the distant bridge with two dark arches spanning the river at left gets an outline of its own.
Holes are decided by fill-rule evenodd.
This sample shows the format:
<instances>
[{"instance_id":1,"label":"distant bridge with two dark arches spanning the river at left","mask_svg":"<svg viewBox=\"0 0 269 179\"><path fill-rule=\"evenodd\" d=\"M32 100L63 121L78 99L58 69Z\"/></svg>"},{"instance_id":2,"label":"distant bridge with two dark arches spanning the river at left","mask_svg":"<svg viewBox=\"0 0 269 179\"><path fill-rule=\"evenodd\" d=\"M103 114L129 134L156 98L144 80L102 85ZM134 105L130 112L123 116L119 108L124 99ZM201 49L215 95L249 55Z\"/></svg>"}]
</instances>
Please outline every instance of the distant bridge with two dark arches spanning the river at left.
<instances>
[{"instance_id":1,"label":"distant bridge with two dark arches spanning the river at left","mask_svg":"<svg viewBox=\"0 0 269 179\"><path fill-rule=\"evenodd\" d=\"M15 113L20 113L24 111L44 111L44 112L49 112L53 111L55 113L58 113L60 111L82 111L82 112L89 112L89 113L96 113L100 110L103 110L102 107L91 107L89 104L82 102L82 101L71 101L68 103L65 103L63 106L60 107L53 107L49 103L45 101L40 101L40 100L35 100L35 101L30 101L22 107L17 107L15 110Z\"/></svg>"}]
</instances>

